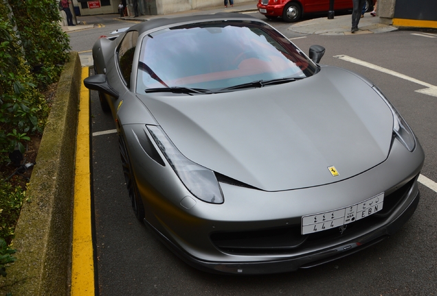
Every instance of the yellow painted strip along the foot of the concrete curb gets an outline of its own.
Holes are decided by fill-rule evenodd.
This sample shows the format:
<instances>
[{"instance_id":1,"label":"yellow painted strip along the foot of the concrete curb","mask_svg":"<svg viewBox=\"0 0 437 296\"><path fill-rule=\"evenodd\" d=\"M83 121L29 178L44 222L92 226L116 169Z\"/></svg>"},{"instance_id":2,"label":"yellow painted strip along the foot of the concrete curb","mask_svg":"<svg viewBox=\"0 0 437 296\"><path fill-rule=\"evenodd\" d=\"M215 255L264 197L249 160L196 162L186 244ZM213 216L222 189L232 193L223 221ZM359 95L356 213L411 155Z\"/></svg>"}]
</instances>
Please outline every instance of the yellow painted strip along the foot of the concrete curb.
<instances>
[{"instance_id":1,"label":"yellow painted strip along the foot of the concrete curb","mask_svg":"<svg viewBox=\"0 0 437 296\"><path fill-rule=\"evenodd\" d=\"M82 68L82 80L89 68ZM93 238L91 234L91 171L89 168L89 90L80 86L76 177L74 180L71 296L95 295Z\"/></svg>"}]
</instances>

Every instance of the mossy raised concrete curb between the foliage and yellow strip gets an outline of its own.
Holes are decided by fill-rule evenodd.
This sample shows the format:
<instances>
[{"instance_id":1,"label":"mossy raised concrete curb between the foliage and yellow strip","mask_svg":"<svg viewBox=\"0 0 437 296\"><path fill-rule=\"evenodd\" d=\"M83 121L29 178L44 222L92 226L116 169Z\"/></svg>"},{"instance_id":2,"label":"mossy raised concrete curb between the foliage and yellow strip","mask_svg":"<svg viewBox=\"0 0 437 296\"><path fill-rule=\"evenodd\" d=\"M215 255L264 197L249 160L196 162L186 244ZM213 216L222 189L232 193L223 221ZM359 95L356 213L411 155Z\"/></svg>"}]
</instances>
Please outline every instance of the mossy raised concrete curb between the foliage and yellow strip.
<instances>
[{"instance_id":1,"label":"mossy raised concrete curb between the foliage and yellow strip","mask_svg":"<svg viewBox=\"0 0 437 296\"><path fill-rule=\"evenodd\" d=\"M0 279L12 295L69 295L71 214L78 98L82 69L77 52L60 76L32 172L27 197L15 229L18 260Z\"/></svg>"}]
</instances>

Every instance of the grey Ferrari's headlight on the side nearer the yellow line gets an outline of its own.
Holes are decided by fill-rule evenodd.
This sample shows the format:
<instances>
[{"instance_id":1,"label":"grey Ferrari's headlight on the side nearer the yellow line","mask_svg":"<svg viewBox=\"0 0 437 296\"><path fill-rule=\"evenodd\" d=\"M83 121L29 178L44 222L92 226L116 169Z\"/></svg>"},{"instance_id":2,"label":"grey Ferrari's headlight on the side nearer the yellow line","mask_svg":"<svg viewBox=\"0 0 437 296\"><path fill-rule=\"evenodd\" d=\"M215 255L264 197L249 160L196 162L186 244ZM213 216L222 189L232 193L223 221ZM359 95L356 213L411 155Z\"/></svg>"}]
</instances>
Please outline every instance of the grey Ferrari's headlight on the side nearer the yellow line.
<instances>
[{"instance_id":1,"label":"grey Ferrari's headlight on the side nearer the yellow line","mask_svg":"<svg viewBox=\"0 0 437 296\"><path fill-rule=\"evenodd\" d=\"M155 143L157 143L157 146L186 188L198 199L211 204L222 204L223 193L214 172L183 156L161 127L156 125L146 126Z\"/></svg>"}]
</instances>

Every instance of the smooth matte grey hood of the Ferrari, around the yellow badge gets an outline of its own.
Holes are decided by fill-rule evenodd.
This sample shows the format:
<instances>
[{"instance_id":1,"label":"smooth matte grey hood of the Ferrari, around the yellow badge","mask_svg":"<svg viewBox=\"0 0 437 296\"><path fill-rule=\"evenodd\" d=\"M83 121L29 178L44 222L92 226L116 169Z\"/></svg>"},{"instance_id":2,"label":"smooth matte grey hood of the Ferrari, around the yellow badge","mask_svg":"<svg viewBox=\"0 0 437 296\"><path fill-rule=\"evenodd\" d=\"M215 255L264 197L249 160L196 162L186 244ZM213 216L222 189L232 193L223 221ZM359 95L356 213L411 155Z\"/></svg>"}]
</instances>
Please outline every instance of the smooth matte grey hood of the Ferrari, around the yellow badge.
<instances>
[{"instance_id":1,"label":"smooth matte grey hood of the Ferrari, around the yellow badge","mask_svg":"<svg viewBox=\"0 0 437 296\"><path fill-rule=\"evenodd\" d=\"M350 178L383 162L392 140L385 101L332 66L276 86L140 99L184 156L267 191Z\"/></svg>"}]
</instances>

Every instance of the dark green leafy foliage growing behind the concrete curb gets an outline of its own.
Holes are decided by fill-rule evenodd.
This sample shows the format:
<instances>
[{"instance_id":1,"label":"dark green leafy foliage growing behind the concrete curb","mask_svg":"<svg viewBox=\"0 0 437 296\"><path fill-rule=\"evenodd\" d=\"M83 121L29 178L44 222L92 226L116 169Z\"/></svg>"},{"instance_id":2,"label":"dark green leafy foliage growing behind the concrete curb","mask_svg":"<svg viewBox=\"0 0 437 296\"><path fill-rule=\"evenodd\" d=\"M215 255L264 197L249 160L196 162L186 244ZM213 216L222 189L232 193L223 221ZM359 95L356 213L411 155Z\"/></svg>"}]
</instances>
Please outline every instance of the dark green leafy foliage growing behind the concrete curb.
<instances>
[{"instance_id":1,"label":"dark green leafy foliage growing behind the concrete curb","mask_svg":"<svg viewBox=\"0 0 437 296\"><path fill-rule=\"evenodd\" d=\"M30 136L43 132L49 114L43 91L58 82L69 58L69 38L59 21L56 0L0 1L0 168L11 151L24 152ZM25 196L5 177L0 170L1 275L14 260L7 243Z\"/></svg>"}]
</instances>

